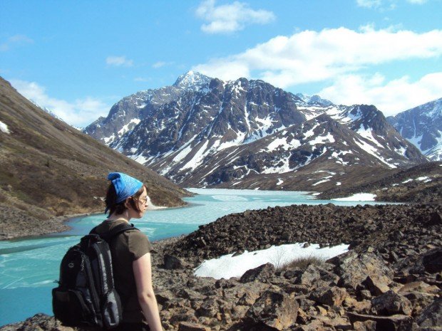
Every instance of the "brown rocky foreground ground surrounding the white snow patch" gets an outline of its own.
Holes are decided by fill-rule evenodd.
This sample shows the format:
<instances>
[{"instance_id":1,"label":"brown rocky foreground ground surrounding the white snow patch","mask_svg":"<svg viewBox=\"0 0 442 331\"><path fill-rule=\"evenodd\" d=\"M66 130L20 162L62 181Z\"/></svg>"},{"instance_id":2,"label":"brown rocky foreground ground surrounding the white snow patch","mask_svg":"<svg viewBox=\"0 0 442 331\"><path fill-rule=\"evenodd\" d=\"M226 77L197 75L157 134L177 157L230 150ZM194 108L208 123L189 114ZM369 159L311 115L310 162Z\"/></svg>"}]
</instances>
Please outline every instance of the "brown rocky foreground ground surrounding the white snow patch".
<instances>
[{"instance_id":1,"label":"brown rocky foreground ground surrounding the white snow patch","mask_svg":"<svg viewBox=\"0 0 442 331\"><path fill-rule=\"evenodd\" d=\"M442 207L288 206L154 243L165 330L442 330ZM350 243L329 261L197 278L203 259L282 243ZM0 330L72 330L35 315Z\"/></svg>"}]
</instances>

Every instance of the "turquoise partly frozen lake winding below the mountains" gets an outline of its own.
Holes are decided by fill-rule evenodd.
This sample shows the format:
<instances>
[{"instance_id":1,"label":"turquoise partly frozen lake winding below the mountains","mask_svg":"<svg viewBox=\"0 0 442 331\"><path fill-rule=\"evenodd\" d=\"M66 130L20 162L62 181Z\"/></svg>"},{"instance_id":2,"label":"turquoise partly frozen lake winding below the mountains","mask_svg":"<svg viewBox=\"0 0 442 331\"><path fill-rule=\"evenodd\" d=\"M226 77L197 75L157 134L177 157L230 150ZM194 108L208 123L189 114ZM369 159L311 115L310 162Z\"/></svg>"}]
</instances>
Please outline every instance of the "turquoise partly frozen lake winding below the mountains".
<instances>
[{"instance_id":1,"label":"turquoise partly frozen lake winding below the mountains","mask_svg":"<svg viewBox=\"0 0 442 331\"><path fill-rule=\"evenodd\" d=\"M189 190L198 194L185 199L189 206L148 211L143 219L133 219L132 223L146 233L150 241L156 241L190 233L201 224L247 209L329 202L339 206L376 204L316 200L306 192L296 191ZM0 326L25 320L37 312L53 315L51 289L56 286L54 280L58 279L61 258L81 236L104 219L104 214L78 217L69 221L71 231L0 241Z\"/></svg>"}]
</instances>

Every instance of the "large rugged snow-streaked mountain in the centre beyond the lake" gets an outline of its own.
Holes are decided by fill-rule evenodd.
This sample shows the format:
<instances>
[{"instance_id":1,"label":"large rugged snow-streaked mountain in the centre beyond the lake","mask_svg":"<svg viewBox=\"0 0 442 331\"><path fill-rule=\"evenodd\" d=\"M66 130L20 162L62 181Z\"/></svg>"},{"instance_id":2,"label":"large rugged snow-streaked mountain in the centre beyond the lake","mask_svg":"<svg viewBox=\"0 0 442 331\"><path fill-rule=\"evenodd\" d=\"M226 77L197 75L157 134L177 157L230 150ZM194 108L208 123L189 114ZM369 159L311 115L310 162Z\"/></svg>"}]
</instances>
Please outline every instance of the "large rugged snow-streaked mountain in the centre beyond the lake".
<instances>
[{"instance_id":1,"label":"large rugged snow-streaked mountain in the centre beyond the lake","mask_svg":"<svg viewBox=\"0 0 442 331\"><path fill-rule=\"evenodd\" d=\"M194 72L123 98L85 132L187 186L299 189L297 174L314 173L302 187L317 189L354 169L426 162L374 106Z\"/></svg>"}]
</instances>

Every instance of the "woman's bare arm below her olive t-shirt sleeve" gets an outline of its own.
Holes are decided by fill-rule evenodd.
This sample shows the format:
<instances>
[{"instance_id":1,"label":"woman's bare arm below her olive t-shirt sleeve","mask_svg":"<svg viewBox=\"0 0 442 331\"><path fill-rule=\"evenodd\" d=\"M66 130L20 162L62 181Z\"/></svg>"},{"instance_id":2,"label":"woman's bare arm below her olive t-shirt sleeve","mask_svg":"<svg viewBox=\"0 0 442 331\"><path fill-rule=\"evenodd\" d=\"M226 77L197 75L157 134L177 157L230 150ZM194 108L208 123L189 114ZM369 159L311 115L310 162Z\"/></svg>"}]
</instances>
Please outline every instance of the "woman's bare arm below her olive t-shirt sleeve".
<instances>
[{"instance_id":1,"label":"woman's bare arm below her olive t-shirt sleeve","mask_svg":"<svg viewBox=\"0 0 442 331\"><path fill-rule=\"evenodd\" d=\"M137 286L138 302L146 320L148 320L150 330L163 331L157 299L153 293L150 253L145 253L138 260L133 261L132 268Z\"/></svg>"}]
</instances>

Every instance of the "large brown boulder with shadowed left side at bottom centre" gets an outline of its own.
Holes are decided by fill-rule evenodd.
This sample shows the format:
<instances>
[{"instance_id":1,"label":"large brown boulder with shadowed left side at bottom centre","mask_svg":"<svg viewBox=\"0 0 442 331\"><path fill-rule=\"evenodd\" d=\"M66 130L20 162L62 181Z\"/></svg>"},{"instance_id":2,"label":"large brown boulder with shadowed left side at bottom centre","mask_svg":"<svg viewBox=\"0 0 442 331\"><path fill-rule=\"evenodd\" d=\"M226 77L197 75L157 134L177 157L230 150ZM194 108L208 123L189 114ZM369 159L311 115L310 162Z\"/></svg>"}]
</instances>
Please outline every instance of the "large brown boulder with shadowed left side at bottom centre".
<instances>
[{"instance_id":1,"label":"large brown boulder with shadowed left side at bottom centre","mask_svg":"<svg viewBox=\"0 0 442 331\"><path fill-rule=\"evenodd\" d=\"M284 330L296 322L299 305L297 300L273 290L267 290L247 311L245 322L259 330Z\"/></svg>"}]
</instances>

